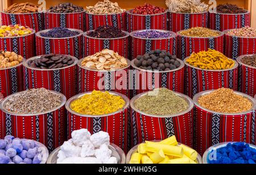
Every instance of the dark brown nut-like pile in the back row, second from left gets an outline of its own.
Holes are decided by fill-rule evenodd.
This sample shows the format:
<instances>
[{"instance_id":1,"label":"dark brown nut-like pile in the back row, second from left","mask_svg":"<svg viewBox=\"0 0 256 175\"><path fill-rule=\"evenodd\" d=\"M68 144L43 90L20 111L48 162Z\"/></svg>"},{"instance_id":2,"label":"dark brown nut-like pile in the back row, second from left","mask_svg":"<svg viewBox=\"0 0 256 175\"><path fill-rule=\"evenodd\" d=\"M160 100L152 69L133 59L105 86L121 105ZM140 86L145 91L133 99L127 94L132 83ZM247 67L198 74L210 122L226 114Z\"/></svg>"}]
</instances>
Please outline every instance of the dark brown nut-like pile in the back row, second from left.
<instances>
[{"instance_id":1,"label":"dark brown nut-like pile in the back row, second from left","mask_svg":"<svg viewBox=\"0 0 256 175\"><path fill-rule=\"evenodd\" d=\"M73 3L59 3L57 6L49 7L48 12L54 13L72 13L72 12L81 12L84 11L84 7L73 5Z\"/></svg>"}]
</instances>

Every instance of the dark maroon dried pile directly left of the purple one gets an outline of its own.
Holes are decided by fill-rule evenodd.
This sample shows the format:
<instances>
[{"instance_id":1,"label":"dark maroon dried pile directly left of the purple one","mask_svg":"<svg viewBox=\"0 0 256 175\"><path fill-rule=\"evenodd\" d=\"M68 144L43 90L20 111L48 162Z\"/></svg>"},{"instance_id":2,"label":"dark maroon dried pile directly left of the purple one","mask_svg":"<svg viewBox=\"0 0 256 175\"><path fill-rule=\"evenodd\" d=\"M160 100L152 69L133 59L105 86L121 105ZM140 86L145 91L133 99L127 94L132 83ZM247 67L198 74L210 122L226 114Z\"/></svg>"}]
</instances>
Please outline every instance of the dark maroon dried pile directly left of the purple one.
<instances>
[{"instance_id":1,"label":"dark maroon dried pile directly left of the purple one","mask_svg":"<svg viewBox=\"0 0 256 175\"><path fill-rule=\"evenodd\" d=\"M100 26L96 30L88 32L87 35L100 39L116 39L126 36L126 33L113 26Z\"/></svg>"}]
</instances>

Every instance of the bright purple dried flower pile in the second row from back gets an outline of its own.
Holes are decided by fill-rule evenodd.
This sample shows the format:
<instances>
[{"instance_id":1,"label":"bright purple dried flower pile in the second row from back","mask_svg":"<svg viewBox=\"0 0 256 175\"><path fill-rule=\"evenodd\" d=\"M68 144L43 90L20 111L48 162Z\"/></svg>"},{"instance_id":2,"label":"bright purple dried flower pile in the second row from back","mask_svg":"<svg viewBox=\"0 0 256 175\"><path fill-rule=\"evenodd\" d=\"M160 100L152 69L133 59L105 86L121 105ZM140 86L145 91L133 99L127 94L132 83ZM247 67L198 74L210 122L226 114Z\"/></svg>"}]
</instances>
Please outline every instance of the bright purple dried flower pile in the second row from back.
<instances>
[{"instance_id":1,"label":"bright purple dried flower pile in the second row from back","mask_svg":"<svg viewBox=\"0 0 256 175\"><path fill-rule=\"evenodd\" d=\"M142 39L166 39L172 36L172 33L168 31L158 31L158 30L145 30L145 31L138 31L134 32L133 34L135 37L139 37Z\"/></svg>"}]
</instances>

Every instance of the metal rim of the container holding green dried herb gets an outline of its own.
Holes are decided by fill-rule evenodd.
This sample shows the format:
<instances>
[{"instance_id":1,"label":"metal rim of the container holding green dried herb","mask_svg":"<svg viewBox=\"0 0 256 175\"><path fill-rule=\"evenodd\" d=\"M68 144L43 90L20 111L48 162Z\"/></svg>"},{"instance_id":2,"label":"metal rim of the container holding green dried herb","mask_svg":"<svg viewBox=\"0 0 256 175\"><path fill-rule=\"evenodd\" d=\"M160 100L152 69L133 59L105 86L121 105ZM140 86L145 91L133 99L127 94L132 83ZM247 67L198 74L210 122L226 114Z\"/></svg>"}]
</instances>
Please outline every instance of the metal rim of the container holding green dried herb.
<instances>
[{"instance_id":1,"label":"metal rim of the container holding green dried herb","mask_svg":"<svg viewBox=\"0 0 256 175\"><path fill-rule=\"evenodd\" d=\"M149 91L150 92L150 91ZM147 113L144 113L142 112L141 110L137 109L134 105L134 101L139 99L140 97L146 95L148 92L143 92L143 93L139 93L138 95L134 96L133 99L130 100L130 107L131 109L135 110L135 112L137 113L140 113L142 114L143 116L148 116L148 117L154 117L154 118L171 118L171 117L177 117L177 116L182 116L188 112L190 112L193 107L194 107L194 103L193 103L193 100L187 96L187 95L184 95L183 93L179 93L179 92L174 92L175 95L183 98L185 101L187 101L188 103L188 109L184 110L183 112L180 112L180 113L176 113L176 114L171 114L171 115L166 115L166 116L163 116L163 115L155 115L155 114L147 114Z\"/></svg>"}]
</instances>

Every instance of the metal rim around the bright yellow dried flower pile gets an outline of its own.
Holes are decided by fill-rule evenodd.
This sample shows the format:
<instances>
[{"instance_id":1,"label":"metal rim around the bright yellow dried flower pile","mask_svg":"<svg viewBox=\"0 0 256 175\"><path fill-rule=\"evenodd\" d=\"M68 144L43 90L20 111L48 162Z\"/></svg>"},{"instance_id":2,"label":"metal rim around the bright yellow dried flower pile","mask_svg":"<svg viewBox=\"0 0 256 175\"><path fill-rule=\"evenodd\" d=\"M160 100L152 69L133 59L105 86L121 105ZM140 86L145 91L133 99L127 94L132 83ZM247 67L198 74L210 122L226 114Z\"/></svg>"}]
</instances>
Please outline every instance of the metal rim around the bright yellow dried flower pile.
<instances>
[{"instance_id":1,"label":"metal rim around the bright yellow dried flower pile","mask_svg":"<svg viewBox=\"0 0 256 175\"><path fill-rule=\"evenodd\" d=\"M98 117L108 117L108 116L113 116L115 114L118 114L120 112L122 112L123 110L127 109L129 107L129 99L128 97L126 97L125 95L123 95L122 93L119 93L119 92L114 92L114 91L101 91L101 92L109 92L111 95L116 95L116 96L120 96L122 97L123 100L125 100L125 105L123 106L122 109L119 109L117 110L116 112L113 112L113 113L109 113L109 114L102 114L102 115L86 115L86 114L80 114L80 113L77 113L75 111L73 111L71 108L70 108L70 105L72 103L72 101L78 99L79 97L82 97L84 96L85 94L90 94L92 93L92 91L89 91L89 92L84 92L84 93L79 93L78 95L75 95L73 97L71 97L70 99L68 99L67 103L65 104L65 108L67 109L67 111L69 113L72 113L76 116L80 116L80 117L92 117L92 118L98 118Z\"/></svg>"}]
</instances>

